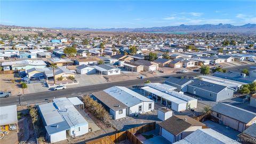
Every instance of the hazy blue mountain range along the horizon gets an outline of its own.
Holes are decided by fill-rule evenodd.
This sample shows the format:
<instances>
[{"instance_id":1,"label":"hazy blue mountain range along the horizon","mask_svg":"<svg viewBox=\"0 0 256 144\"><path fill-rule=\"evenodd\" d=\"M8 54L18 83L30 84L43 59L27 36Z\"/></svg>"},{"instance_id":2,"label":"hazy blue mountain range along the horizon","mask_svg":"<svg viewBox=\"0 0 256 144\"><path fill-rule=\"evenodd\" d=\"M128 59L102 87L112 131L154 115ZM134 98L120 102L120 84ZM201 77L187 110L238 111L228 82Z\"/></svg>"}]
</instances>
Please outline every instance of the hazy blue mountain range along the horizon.
<instances>
[{"instance_id":1,"label":"hazy blue mountain range along the horizon","mask_svg":"<svg viewBox=\"0 0 256 144\"><path fill-rule=\"evenodd\" d=\"M54 29L69 29L69 30L87 30L87 31L130 31L130 32L186 32L186 33L247 33L256 34L256 24L246 24L243 26L233 26L230 24L223 25L180 25L167 27L151 27L151 28L107 28L107 29L92 29L92 28L54 28Z\"/></svg>"}]
</instances>

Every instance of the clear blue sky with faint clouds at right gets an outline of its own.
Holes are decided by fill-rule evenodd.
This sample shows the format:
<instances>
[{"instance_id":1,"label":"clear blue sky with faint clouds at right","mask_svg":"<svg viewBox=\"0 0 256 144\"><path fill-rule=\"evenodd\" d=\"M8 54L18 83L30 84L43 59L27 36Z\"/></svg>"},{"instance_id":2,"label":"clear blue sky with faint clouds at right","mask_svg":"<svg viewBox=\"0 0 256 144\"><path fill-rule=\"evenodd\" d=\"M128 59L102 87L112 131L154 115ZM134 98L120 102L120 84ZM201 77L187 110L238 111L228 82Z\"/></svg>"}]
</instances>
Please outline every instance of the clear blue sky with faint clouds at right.
<instances>
[{"instance_id":1,"label":"clear blue sky with faint clouds at right","mask_svg":"<svg viewBox=\"0 0 256 144\"><path fill-rule=\"evenodd\" d=\"M137 28L256 23L256 1L2 1L3 25Z\"/></svg>"}]
</instances>

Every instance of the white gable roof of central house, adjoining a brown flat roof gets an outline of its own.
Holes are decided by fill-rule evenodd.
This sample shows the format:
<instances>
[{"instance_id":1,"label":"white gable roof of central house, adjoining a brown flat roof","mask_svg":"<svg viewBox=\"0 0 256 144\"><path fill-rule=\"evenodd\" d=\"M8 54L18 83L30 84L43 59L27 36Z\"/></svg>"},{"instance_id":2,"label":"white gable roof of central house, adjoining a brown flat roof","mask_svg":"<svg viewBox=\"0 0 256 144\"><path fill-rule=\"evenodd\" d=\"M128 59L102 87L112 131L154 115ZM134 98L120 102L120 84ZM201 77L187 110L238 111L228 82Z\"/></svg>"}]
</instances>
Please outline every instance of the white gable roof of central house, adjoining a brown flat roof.
<instances>
[{"instance_id":1,"label":"white gable roof of central house, adjoining a brown flat roof","mask_svg":"<svg viewBox=\"0 0 256 144\"><path fill-rule=\"evenodd\" d=\"M153 100L150 100L143 95L134 92L124 86L113 86L103 91L105 91L115 99L121 101L122 103L124 103L124 105L128 107L132 107L143 101L154 102Z\"/></svg>"}]
</instances>

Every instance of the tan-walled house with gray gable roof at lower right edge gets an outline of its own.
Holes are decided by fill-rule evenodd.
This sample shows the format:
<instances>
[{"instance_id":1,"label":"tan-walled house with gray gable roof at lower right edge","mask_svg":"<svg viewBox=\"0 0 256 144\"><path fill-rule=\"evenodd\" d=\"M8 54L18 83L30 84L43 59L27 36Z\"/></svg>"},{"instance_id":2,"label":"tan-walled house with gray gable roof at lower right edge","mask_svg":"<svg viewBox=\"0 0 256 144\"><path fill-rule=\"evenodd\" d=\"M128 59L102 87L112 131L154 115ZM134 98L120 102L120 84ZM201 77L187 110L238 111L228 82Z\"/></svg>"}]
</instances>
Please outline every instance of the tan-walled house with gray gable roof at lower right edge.
<instances>
[{"instance_id":1,"label":"tan-walled house with gray gable roof at lower right edge","mask_svg":"<svg viewBox=\"0 0 256 144\"><path fill-rule=\"evenodd\" d=\"M250 125L256 123L256 113L227 103L218 103L211 110L212 116L217 118L220 124L239 132L243 132Z\"/></svg>"}]
</instances>

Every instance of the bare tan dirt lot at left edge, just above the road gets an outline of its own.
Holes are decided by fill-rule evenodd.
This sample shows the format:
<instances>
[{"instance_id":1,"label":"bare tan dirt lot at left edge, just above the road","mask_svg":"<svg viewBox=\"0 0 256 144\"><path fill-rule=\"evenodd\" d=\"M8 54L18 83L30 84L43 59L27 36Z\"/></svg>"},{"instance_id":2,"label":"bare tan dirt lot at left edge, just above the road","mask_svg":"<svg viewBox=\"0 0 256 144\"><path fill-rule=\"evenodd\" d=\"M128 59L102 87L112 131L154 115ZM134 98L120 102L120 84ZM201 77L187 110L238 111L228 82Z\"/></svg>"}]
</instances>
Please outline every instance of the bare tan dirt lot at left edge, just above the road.
<instances>
[{"instance_id":1,"label":"bare tan dirt lot at left edge, just above the road","mask_svg":"<svg viewBox=\"0 0 256 144\"><path fill-rule=\"evenodd\" d=\"M22 89L19 88L19 82L17 77L15 77L14 81L14 74L0 75L0 90L11 91L12 95L22 94Z\"/></svg>"}]
</instances>

